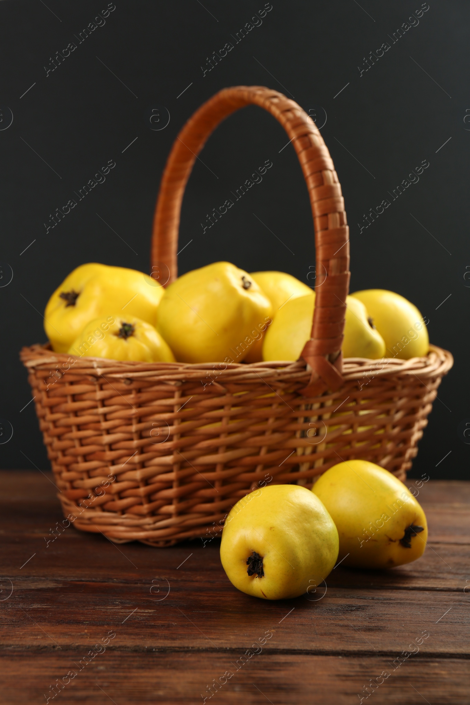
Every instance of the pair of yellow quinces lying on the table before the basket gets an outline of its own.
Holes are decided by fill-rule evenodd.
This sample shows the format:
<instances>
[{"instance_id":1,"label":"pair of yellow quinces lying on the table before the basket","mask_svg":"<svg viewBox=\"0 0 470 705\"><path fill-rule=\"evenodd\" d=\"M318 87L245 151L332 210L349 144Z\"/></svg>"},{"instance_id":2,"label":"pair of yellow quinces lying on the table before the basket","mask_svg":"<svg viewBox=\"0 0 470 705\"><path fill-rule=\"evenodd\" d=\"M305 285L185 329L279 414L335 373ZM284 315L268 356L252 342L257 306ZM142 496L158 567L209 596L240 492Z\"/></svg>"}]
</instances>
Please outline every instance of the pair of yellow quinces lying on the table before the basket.
<instances>
[{"instance_id":1,"label":"pair of yellow quinces lying on the table before the basket","mask_svg":"<svg viewBox=\"0 0 470 705\"><path fill-rule=\"evenodd\" d=\"M394 568L422 556L427 537L421 505L395 475L348 460L330 467L311 491L278 484L240 499L225 519L221 562L230 582L249 595L306 594L314 601L325 595L323 581L336 565Z\"/></svg>"}]
</instances>

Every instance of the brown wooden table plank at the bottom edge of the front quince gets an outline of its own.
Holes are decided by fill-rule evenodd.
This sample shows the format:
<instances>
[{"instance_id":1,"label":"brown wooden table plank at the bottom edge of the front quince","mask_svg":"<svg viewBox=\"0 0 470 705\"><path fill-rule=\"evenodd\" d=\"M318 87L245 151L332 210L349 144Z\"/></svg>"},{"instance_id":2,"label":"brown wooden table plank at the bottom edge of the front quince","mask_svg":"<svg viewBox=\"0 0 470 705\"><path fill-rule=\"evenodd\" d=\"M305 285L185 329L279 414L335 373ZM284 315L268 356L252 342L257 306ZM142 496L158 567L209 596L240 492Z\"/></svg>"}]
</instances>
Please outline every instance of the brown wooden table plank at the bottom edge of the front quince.
<instances>
[{"instance_id":1,"label":"brown wooden table plank at the bottom edge of the front quince","mask_svg":"<svg viewBox=\"0 0 470 705\"><path fill-rule=\"evenodd\" d=\"M271 630L276 639L269 648L277 643L315 654L381 653L385 645L403 649L428 630L426 649L433 654L469 651L469 596L463 591L328 586L270 602L237 591L221 569L200 575L196 562L171 577L169 593L161 578L154 583L160 592L150 593L151 580L151 574L130 572L106 582L62 580L54 573L13 580L13 594L1 603L0 645L65 647L116 630L129 646L227 649L247 647L259 630Z\"/></svg>"}]
</instances>

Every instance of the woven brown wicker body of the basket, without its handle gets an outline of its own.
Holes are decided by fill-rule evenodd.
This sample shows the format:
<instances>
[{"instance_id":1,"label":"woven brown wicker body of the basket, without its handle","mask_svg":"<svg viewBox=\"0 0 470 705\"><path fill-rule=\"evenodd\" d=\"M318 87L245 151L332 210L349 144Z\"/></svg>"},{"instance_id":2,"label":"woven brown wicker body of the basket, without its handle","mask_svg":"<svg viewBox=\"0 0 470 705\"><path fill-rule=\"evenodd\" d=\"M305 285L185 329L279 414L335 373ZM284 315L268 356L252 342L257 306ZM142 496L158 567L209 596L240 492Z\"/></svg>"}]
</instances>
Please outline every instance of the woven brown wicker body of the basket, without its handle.
<instances>
[{"instance_id":1,"label":"woven brown wicker body of the basket, without its handle","mask_svg":"<svg viewBox=\"0 0 470 705\"><path fill-rule=\"evenodd\" d=\"M156 546L213 536L249 491L311 486L341 460L371 460L404 479L452 363L440 348L413 360L349 359L338 391L307 398L304 362L214 371L82 358L61 372L68 355L37 345L22 358L64 515L78 529Z\"/></svg>"}]
</instances>

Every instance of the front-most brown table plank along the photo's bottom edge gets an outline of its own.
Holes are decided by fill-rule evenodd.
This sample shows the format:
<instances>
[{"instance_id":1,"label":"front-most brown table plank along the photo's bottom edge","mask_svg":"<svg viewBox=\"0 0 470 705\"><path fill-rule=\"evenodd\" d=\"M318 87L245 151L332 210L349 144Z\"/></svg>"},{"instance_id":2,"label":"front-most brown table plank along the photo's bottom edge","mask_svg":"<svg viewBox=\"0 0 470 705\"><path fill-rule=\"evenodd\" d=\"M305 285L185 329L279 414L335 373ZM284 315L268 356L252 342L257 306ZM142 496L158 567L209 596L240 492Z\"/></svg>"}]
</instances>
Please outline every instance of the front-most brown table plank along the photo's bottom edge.
<instances>
[{"instance_id":1,"label":"front-most brown table plank along the photo's bottom edge","mask_svg":"<svg viewBox=\"0 0 470 705\"><path fill-rule=\"evenodd\" d=\"M114 642L118 642L118 637ZM418 653L398 666L399 653L395 651L369 657L294 656L261 651L248 657L240 650L201 654L118 649L116 643L86 666L84 649L3 654L2 705L47 703L47 697L52 698L58 691L57 701L63 705L85 701L192 705L203 704L204 697L206 704L350 705L359 703L372 691L373 702L383 705L469 702L470 661L457 658L438 660ZM72 680L68 680L70 677ZM60 688L58 681L67 685Z\"/></svg>"}]
</instances>

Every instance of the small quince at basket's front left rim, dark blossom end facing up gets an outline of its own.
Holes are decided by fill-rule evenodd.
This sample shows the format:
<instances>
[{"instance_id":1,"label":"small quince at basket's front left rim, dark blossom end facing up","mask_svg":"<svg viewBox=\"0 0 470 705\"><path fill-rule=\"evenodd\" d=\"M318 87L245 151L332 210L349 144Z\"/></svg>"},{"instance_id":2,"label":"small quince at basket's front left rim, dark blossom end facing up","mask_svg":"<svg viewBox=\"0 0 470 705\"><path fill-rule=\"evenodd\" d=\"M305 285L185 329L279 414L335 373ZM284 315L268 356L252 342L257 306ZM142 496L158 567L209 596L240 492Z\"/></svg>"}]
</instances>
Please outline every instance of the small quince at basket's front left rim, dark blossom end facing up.
<instances>
[{"instance_id":1,"label":"small quince at basket's front left rim, dark blossom end facing up","mask_svg":"<svg viewBox=\"0 0 470 705\"><path fill-rule=\"evenodd\" d=\"M111 360L175 362L175 356L154 326L127 314L111 314L90 321L68 353Z\"/></svg>"}]
</instances>

